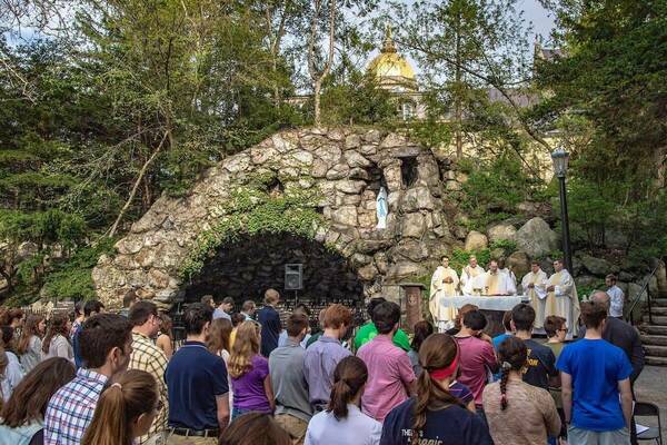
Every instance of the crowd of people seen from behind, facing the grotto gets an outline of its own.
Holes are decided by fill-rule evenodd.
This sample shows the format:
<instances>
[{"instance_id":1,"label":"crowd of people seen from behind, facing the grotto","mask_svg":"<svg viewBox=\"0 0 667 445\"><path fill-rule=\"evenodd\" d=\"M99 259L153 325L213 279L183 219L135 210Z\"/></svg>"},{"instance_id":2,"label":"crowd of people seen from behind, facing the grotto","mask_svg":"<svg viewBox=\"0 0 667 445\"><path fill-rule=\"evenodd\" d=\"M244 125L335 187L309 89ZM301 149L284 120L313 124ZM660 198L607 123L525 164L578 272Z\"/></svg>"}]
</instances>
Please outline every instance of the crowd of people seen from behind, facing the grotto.
<instances>
[{"instance_id":1,"label":"crowd of people seen from behind, facing the grotto","mask_svg":"<svg viewBox=\"0 0 667 445\"><path fill-rule=\"evenodd\" d=\"M644 366L636 330L609 316L611 299L581 304L579 339L519 304L506 333L484 333L464 306L447 333L374 298L369 322L329 305L319 332L307 306L286 317L210 296L171 320L130 294L121 314L97 300L49 320L0 312L0 445L436 445L629 444L633 382ZM285 325L285 326L283 326Z\"/></svg>"}]
</instances>

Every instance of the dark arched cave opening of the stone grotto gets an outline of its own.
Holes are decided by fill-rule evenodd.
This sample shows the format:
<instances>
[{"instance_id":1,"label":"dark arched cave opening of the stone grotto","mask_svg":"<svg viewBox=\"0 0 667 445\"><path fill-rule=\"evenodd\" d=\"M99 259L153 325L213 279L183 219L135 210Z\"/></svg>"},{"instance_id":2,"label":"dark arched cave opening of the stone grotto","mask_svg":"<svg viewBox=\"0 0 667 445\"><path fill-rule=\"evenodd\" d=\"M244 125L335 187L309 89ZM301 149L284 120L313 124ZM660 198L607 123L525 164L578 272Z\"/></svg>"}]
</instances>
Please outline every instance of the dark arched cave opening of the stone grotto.
<instances>
[{"instance_id":1,"label":"dark arched cave opening of the stone grotto","mask_svg":"<svg viewBox=\"0 0 667 445\"><path fill-rule=\"evenodd\" d=\"M302 288L286 289L286 266L302 265ZM281 308L306 304L316 320L319 309L341 303L358 312L364 304L364 283L349 261L323 244L290 234L241 236L220 247L185 287L185 303L212 295L217 301L235 299L235 312L247 299L261 304L263 293L280 293Z\"/></svg>"}]
</instances>

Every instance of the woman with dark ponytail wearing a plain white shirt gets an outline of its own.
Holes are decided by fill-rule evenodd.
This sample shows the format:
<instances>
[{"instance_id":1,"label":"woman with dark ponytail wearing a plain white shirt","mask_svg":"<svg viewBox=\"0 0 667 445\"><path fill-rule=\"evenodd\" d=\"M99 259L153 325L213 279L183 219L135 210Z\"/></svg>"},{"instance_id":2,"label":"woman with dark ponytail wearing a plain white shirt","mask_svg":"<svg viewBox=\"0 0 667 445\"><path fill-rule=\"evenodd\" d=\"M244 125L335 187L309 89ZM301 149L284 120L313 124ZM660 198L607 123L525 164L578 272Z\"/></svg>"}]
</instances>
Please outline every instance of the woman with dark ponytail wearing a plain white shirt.
<instances>
[{"instance_id":1,"label":"woman with dark ponytail wearing a plain white shirt","mask_svg":"<svg viewBox=\"0 0 667 445\"><path fill-rule=\"evenodd\" d=\"M326 411L308 424L305 445L377 445L382 425L361 413L359 404L368 380L368 368L349 356L334 370L334 386Z\"/></svg>"}]
</instances>

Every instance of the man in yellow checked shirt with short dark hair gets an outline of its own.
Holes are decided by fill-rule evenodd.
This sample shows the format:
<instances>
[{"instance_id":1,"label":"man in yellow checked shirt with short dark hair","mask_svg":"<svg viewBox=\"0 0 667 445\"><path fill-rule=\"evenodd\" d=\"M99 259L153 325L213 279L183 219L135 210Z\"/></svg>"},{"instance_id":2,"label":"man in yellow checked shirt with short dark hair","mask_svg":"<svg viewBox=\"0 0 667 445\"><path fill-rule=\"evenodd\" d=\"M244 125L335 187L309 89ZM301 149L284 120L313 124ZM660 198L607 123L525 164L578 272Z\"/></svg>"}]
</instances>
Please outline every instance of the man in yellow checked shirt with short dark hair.
<instances>
[{"instance_id":1,"label":"man in yellow checked shirt with short dark hair","mask_svg":"<svg viewBox=\"0 0 667 445\"><path fill-rule=\"evenodd\" d=\"M150 301L135 303L128 318L132 325L132 355L128 369L146 370L152 375L158 383L160 402L162 402L162 408L158 411L148 434L139 437L140 444L155 445L162 442L167 431L167 413L169 412L167 384L165 383L167 356L152 340L160 330L158 307Z\"/></svg>"}]
</instances>

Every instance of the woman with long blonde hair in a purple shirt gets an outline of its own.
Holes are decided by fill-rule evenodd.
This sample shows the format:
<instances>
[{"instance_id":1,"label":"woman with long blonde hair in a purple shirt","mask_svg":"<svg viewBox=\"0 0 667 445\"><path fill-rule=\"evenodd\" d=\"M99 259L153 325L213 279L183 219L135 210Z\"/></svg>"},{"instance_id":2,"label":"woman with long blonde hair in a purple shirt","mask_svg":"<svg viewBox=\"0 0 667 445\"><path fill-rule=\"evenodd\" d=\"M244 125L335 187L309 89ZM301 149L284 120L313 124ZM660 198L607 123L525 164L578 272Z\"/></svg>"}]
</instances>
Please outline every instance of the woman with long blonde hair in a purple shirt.
<instances>
[{"instance_id":1,"label":"woman with long blonde hair in a purple shirt","mask_svg":"<svg viewBox=\"0 0 667 445\"><path fill-rule=\"evenodd\" d=\"M256 322L241 323L229 357L235 395L232 419L249 412L271 414L276 408L269 362L259 355L259 325Z\"/></svg>"}]
</instances>

